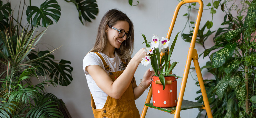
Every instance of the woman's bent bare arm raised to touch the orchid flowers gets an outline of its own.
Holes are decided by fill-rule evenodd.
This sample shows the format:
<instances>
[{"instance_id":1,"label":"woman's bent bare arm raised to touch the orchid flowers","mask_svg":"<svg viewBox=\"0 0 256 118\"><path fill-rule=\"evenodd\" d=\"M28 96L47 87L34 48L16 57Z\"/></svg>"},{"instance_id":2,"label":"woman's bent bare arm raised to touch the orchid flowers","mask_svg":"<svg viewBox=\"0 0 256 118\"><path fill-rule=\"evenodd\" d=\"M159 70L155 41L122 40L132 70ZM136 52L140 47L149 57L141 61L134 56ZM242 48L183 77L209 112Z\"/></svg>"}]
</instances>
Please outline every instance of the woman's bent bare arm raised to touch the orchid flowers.
<instances>
[{"instance_id":1,"label":"woman's bent bare arm raised to touch the orchid flowers","mask_svg":"<svg viewBox=\"0 0 256 118\"><path fill-rule=\"evenodd\" d=\"M139 63L146 55L147 53L144 52L144 48L140 49L131 59L123 73L114 82L99 65L87 66L85 70L92 76L99 88L107 95L119 99L128 88Z\"/></svg>"}]
</instances>

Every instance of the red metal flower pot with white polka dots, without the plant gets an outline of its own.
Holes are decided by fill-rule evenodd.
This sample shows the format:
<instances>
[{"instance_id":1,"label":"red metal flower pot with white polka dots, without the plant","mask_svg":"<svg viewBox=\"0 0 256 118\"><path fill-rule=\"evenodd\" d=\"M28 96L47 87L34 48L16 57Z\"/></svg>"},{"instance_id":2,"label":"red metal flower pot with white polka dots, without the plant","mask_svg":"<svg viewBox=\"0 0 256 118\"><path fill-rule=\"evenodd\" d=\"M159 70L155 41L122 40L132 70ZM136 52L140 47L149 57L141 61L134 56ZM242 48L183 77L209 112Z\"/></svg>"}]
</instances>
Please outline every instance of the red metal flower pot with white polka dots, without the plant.
<instances>
[{"instance_id":1,"label":"red metal flower pot with white polka dots, without the plant","mask_svg":"<svg viewBox=\"0 0 256 118\"><path fill-rule=\"evenodd\" d=\"M165 89L163 90L163 85L158 76L153 76L152 94L155 107L174 107L177 105L177 81L175 77L165 77L165 83Z\"/></svg>"}]
</instances>

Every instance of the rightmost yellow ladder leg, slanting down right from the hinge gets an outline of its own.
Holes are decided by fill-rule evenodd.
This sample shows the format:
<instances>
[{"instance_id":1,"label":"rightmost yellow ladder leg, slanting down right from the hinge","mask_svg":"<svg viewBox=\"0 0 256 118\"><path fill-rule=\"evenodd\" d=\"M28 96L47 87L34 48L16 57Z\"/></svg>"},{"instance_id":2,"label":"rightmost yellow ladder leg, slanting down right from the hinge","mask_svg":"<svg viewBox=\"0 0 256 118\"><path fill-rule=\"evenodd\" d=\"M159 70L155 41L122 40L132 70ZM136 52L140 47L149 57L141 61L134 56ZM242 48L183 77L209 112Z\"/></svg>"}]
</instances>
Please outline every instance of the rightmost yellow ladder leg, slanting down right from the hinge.
<instances>
[{"instance_id":1,"label":"rightmost yellow ladder leg, slanting down right from the hinge","mask_svg":"<svg viewBox=\"0 0 256 118\"><path fill-rule=\"evenodd\" d=\"M194 62L194 66L195 66L195 69L196 69L200 89L201 89L201 92L202 92L203 102L204 102L204 105L205 105L205 108L206 108L207 116L208 116L208 118L212 118L212 112L211 112L209 100L208 100L208 97L207 97L207 93L206 93L206 90L205 90L205 87L204 87L203 77L202 77L202 73L201 73L201 70L200 70L200 67L199 67L198 60L193 59L193 62Z\"/></svg>"}]
</instances>

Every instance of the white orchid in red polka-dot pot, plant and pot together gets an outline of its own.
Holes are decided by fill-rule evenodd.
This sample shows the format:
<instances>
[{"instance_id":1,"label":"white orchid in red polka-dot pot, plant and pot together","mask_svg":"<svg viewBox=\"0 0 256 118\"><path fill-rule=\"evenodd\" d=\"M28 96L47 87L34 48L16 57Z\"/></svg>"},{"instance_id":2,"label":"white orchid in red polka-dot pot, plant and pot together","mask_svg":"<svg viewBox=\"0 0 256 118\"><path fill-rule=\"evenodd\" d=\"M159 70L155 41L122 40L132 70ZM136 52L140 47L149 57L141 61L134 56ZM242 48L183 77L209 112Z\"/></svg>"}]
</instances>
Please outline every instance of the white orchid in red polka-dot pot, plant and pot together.
<instances>
[{"instance_id":1,"label":"white orchid in red polka-dot pot, plant and pot together","mask_svg":"<svg viewBox=\"0 0 256 118\"><path fill-rule=\"evenodd\" d=\"M179 34L179 33L178 33ZM178 37L176 35L171 47L168 47L170 43L168 38L162 37L159 40L157 35L153 35L151 46L150 42L147 42L145 35L142 34L146 43L144 49L149 56L142 58L141 63L144 66L151 64L155 75L152 77L152 94L153 94L153 105L156 107L174 107L177 105L177 78L172 73L172 70L178 62L170 63L171 55ZM160 54L161 52L161 54Z\"/></svg>"}]
</instances>

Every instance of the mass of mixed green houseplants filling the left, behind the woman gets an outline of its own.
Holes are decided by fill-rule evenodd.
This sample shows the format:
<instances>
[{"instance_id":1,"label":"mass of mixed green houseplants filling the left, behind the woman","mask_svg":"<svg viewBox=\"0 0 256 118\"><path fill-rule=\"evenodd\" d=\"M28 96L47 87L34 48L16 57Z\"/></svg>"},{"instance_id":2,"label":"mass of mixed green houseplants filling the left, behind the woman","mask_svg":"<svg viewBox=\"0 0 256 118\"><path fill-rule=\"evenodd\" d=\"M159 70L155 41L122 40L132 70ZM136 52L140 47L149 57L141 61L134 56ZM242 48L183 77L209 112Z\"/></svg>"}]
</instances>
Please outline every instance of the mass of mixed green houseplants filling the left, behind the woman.
<instances>
[{"instance_id":1,"label":"mass of mixed green houseplants filling the left, behind the woman","mask_svg":"<svg viewBox=\"0 0 256 118\"><path fill-rule=\"evenodd\" d=\"M15 1L17 2L17 1ZM46 86L67 86L73 80L70 61L54 60L54 50L39 51L36 44L53 21L60 19L60 6L56 0L45 0L40 8L26 7L20 1L18 15L14 16L11 1L0 0L0 117L1 118L62 118L58 107L64 103ZM67 1L69 2L69 1ZM91 22L98 13L95 0L71 0L77 6L79 19ZM26 11L27 21L22 21ZM93 14L93 15L92 15ZM28 22L23 26L24 22ZM37 27L45 30L37 31ZM58 49L58 48L57 48ZM37 51L38 50L38 51ZM34 85L32 80L38 80Z\"/></svg>"}]
</instances>

